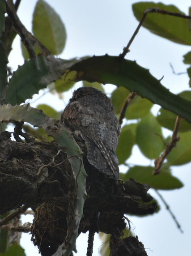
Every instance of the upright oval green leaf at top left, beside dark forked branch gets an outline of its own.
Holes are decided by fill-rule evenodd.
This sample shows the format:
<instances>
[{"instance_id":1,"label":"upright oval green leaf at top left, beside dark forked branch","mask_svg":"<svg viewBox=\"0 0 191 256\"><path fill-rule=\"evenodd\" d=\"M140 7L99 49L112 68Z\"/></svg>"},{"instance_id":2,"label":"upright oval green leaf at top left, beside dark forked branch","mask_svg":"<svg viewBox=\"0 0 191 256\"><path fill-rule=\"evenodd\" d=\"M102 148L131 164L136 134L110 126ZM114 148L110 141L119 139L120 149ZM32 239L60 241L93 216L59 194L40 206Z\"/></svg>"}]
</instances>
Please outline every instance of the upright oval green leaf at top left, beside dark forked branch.
<instances>
[{"instance_id":1,"label":"upright oval green leaf at top left, beside dark forked branch","mask_svg":"<svg viewBox=\"0 0 191 256\"><path fill-rule=\"evenodd\" d=\"M62 53L66 43L65 26L49 4L38 0L33 14L33 34L53 55Z\"/></svg>"}]
</instances>

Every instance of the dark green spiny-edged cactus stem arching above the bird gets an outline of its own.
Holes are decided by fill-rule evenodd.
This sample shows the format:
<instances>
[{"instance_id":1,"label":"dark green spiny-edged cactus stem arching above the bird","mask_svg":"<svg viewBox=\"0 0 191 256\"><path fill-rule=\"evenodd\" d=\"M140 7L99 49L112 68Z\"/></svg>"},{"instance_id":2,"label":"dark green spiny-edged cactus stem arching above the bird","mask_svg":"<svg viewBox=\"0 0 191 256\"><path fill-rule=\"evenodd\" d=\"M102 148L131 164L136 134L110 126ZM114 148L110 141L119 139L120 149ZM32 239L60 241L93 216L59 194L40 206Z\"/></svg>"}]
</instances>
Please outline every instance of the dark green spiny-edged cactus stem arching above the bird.
<instances>
[{"instance_id":1,"label":"dark green spiny-edged cactus stem arching above the bird","mask_svg":"<svg viewBox=\"0 0 191 256\"><path fill-rule=\"evenodd\" d=\"M70 70L77 71L76 81L123 86L191 123L191 101L172 94L136 61L121 59L120 56L93 56L74 64Z\"/></svg>"}]
</instances>

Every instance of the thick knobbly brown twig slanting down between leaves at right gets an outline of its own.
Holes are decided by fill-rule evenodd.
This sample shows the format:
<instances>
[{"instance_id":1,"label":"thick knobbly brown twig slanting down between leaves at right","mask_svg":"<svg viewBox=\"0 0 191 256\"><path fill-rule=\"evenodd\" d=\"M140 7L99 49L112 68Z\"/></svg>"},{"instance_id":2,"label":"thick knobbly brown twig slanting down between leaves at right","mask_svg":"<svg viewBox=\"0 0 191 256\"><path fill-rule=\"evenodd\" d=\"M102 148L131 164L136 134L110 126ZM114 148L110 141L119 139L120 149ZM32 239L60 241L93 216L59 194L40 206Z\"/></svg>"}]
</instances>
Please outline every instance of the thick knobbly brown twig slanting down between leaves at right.
<instances>
[{"instance_id":1,"label":"thick knobbly brown twig slanting down between leaves at right","mask_svg":"<svg viewBox=\"0 0 191 256\"><path fill-rule=\"evenodd\" d=\"M161 156L159 158L157 158L154 162L155 168L153 171L153 175L160 174L160 170L162 168L162 165L163 165L165 159L169 155L170 151L174 147L176 147L176 143L180 140L180 137L177 137L177 134L178 134L181 120L182 120L182 118L180 116L177 116L176 122L174 125L174 131L173 131L172 138L171 138L170 142L167 144L166 149L162 152Z\"/></svg>"}]
</instances>

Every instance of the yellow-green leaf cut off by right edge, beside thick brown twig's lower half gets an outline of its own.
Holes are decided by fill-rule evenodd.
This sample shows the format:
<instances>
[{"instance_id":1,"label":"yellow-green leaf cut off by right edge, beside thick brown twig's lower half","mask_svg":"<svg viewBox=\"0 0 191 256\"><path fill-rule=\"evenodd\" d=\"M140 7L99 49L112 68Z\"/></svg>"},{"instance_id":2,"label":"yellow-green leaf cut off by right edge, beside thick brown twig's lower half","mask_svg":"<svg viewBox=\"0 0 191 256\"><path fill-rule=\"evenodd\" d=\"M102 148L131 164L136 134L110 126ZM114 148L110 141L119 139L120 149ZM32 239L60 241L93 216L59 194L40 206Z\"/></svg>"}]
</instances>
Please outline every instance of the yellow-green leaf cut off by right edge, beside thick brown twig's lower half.
<instances>
[{"instance_id":1,"label":"yellow-green leaf cut off by right edge, beside thick brown twig's lower half","mask_svg":"<svg viewBox=\"0 0 191 256\"><path fill-rule=\"evenodd\" d=\"M178 132L178 137L180 137L180 141L177 142L177 146L172 149L167 158L169 166L191 162L191 132Z\"/></svg>"}]
</instances>

